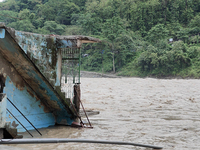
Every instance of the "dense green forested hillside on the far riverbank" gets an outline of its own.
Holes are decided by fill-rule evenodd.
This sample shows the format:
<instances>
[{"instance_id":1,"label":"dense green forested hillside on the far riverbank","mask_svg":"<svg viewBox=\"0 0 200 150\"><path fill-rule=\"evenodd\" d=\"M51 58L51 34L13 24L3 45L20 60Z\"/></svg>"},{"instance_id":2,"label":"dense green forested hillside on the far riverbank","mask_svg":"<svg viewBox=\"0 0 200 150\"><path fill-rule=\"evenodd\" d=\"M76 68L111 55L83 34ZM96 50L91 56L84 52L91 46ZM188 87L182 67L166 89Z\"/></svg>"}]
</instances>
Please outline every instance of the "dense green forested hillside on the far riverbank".
<instances>
[{"instance_id":1,"label":"dense green forested hillside on the far riverbank","mask_svg":"<svg viewBox=\"0 0 200 150\"><path fill-rule=\"evenodd\" d=\"M200 0L5 0L0 22L100 38L82 49L84 70L200 77Z\"/></svg>"}]
</instances>

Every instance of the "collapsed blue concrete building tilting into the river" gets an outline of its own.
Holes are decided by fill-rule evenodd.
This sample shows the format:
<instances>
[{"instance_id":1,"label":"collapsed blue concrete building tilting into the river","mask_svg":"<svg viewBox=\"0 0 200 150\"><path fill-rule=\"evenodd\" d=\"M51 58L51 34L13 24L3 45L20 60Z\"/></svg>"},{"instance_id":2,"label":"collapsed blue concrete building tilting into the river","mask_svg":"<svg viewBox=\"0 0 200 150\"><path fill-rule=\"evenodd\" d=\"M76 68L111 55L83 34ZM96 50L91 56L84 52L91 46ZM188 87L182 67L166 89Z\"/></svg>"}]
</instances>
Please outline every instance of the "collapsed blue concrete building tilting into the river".
<instances>
[{"instance_id":1,"label":"collapsed blue concrete building tilting into the river","mask_svg":"<svg viewBox=\"0 0 200 150\"><path fill-rule=\"evenodd\" d=\"M87 36L16 31L0 23L1 138L5 130L72 124L77 115L70 99L79 110L80 48L96 42L100 40ZM66 91L61 90L62 83L67 84Z\"/></svg>"}]
</instances>

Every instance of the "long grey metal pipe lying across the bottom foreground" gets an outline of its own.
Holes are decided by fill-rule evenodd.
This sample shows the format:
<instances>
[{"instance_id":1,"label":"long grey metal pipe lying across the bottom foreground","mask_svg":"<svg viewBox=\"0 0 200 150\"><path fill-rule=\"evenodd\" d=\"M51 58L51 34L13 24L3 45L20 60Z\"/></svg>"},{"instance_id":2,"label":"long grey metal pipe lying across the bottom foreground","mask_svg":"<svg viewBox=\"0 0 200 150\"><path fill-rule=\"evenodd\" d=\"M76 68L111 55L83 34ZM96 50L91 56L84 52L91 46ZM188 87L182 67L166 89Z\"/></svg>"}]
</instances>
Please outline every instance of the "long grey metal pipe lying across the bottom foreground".
<instances>
[{"instance_id":1,"label":"long grey metal pipe lying across the bottom foreground","mask_svg":"<svg viewBox=\"0 0 200 150\"><path fill-rule=\"evenodd\" d=\"M137 144L132 142L122 142L122 141L106 141L106 140L84 140L84 139L66 139L66 138L48 138L48 139L2 139L1 144L46 144L46 143L99 143L99 144L116 144L116 145L132 145L139 147L147 147L153 149L162 149L160 146Z\"/></svg>"}]
</instances>

